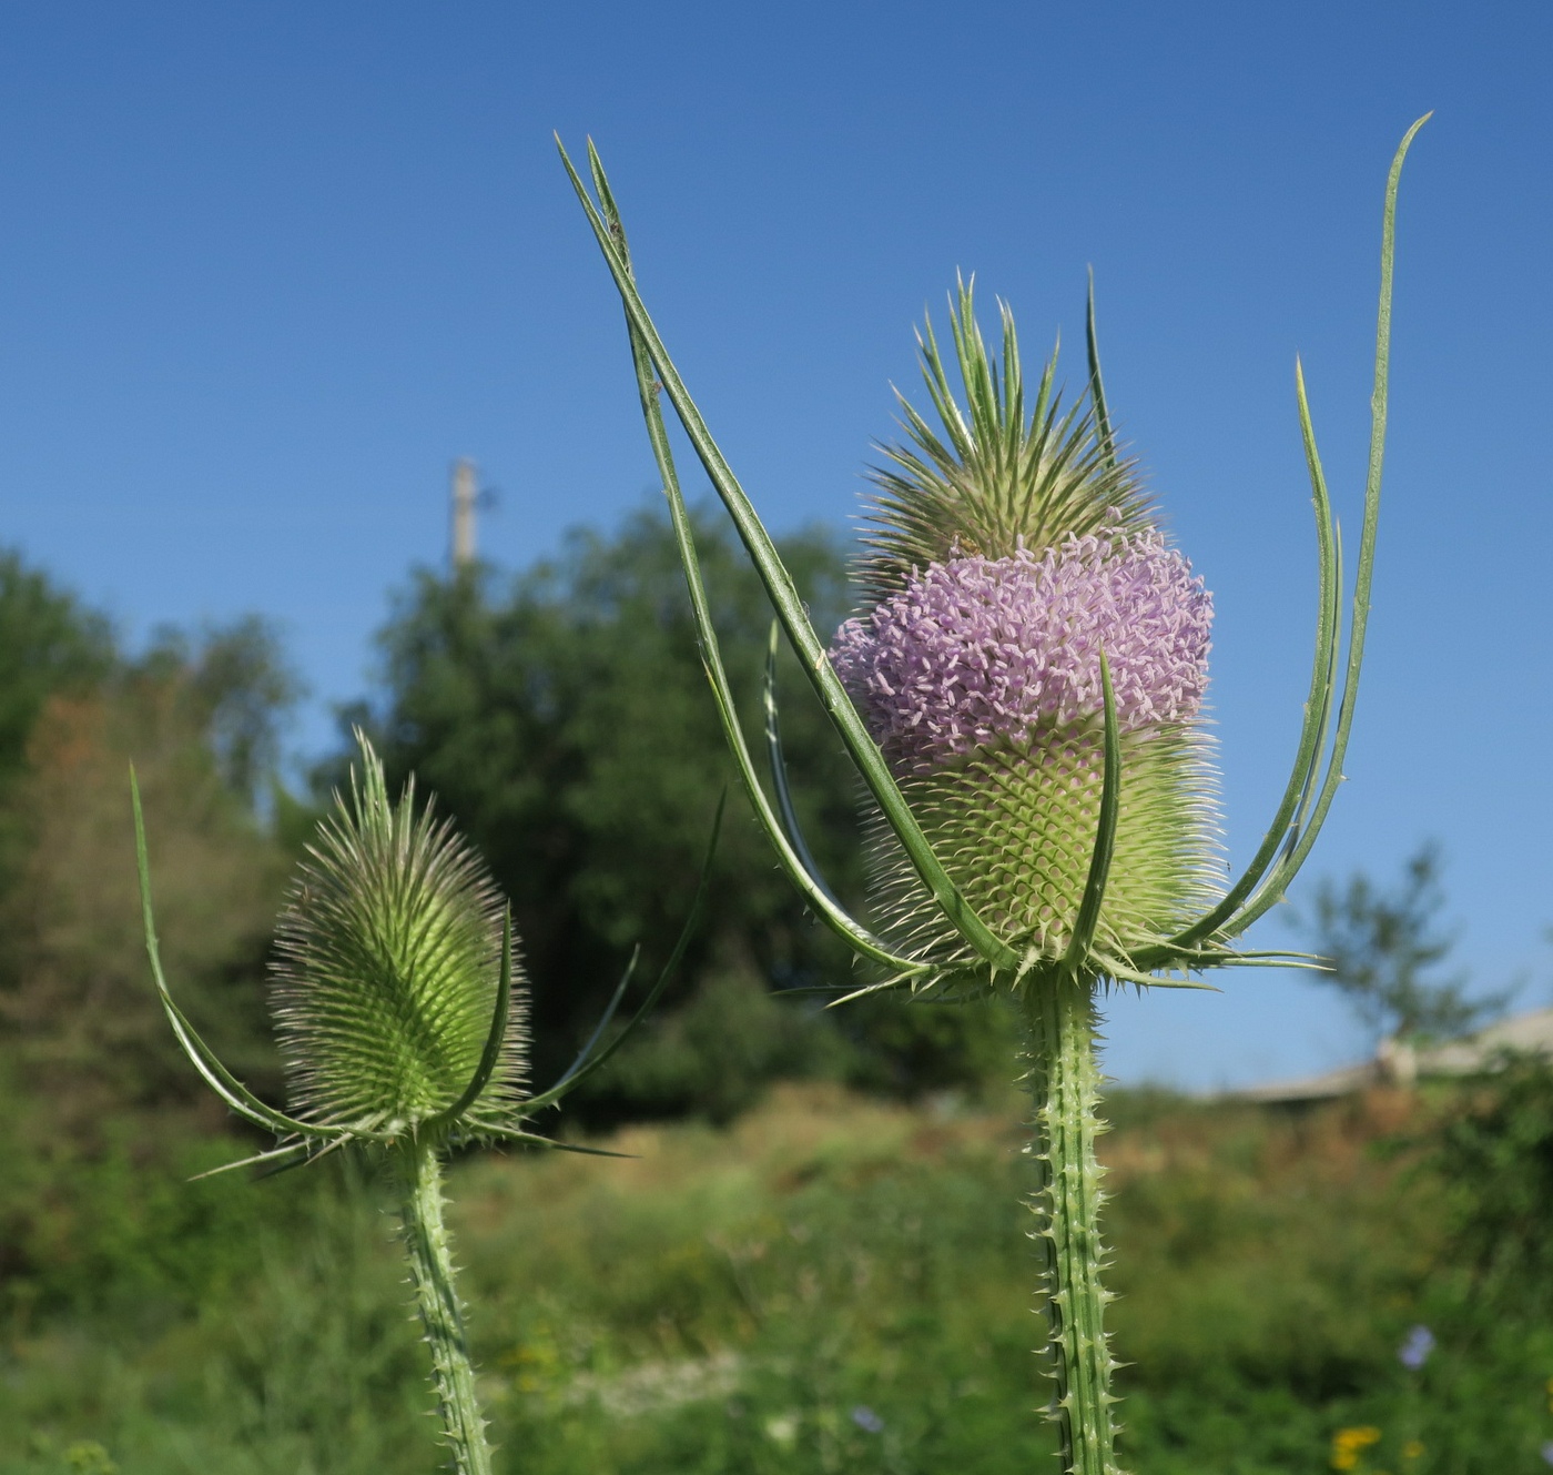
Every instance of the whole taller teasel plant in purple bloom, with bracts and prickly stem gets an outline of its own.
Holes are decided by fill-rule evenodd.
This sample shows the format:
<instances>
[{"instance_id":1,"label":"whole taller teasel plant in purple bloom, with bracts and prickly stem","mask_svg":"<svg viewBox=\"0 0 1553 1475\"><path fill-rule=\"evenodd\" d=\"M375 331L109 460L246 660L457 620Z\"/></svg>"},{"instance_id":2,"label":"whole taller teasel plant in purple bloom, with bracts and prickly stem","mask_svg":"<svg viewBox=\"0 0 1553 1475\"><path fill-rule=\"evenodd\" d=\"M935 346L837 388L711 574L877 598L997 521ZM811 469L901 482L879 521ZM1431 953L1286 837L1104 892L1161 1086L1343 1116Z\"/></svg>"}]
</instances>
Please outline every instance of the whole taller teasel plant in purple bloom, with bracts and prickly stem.
<instances>
[{"instance_id":1,"label":"whole taller teasel plant in purple bloom, with bracts and prickly stem","mask_svg":"<svg viewBox=\"0 0 1553 1475\"><path fill-rule=\"evenodd\" d=\"M1062 1469L1118 1475L1098 1006L1110 992L1202 989L1221 967L1305 965L1238 947L1284 895L1342 782L1364 661L1385 446L1396 191L1385 185L1381 302L1364 522L1351 605L1340 530L1303 371L1295 399L1315 510L1317 622L1294 768L1250 864L1221 880L1202 715L1211 602L1159 528L1118 451L1087 303L1087 381L1059 404L1056 357L1033 399L1014 322L994 356L969 286L950 300L963 403L932 325L919 336L940 426L901 399L904 446L882 448L857 564L865 605L834 642L812 628L770 536L717 448L637 289L626 232L592 140L592 191L561 146L626 311L637 390L679 539L713 699L750 804L814 915L874 979L924 999L1009 999L1025 1026L1042 1357ZM731 516L770 597L770 788L733 701L700 577L662 399ZM851 915L798 830L775 698L778 629L797 653L871 805L874 926Z\"/></svg>"}]
</instances>

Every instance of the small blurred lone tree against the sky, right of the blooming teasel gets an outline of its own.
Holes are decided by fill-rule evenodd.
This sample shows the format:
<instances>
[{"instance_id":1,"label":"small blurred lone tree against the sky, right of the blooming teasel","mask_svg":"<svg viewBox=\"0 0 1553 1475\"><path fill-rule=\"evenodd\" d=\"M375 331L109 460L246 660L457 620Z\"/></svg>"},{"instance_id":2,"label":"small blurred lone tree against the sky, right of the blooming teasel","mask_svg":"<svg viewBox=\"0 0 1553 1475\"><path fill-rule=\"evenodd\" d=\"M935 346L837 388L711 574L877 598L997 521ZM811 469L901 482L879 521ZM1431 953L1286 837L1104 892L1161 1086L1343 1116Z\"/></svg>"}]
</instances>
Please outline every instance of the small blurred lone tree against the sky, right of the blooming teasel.
<instances>
[{"instance_id":1,"label":"small blurred lone tree against the sky, right of the blooming teasel","mask_svg":"<svg viewBox=\"0 0 1553 1475\"><path fill-rule=\"evenodd\" d=\"M1508 993L1468 998L1464 973L1433 976L1455 939L1440 914L1440 850L1423 844L1402 878L1382 889L1364 872L1339 886L1323 877L1297 925L1329 971L1308 978L1337 989L1378 1038L1449 1040L1500 1012Z\"/></svg>"}]
</instances>

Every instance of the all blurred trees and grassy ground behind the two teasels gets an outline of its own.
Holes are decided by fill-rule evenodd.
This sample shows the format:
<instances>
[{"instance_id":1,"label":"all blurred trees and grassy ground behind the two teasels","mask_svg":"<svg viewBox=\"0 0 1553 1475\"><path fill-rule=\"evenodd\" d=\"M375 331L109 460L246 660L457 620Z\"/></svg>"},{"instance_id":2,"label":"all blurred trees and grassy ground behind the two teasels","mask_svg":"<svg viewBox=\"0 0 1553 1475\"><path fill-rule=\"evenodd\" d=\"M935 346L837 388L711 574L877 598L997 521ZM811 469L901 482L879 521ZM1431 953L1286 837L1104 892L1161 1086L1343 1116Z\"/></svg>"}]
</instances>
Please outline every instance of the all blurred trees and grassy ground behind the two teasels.
<instances>
[{"instance_id":1,"label":"all blurred trees and grassy ground behind the two teasels","mask_svg":"<svg viewBox=\"0 0 1553 1475\"><path fill-rule=\"evenodd\" d=\"M806 533L786 553L840 617L840 544ZM707 572L753 709L764 606L711 532ZM856 895L854 796L786 679L809 838ZM643 513L511 580L416 575L380 690L346 713L514 898L539 1079L632 945L651 967L688 906L727 782L702 682L672 549ZM0 1475L436 1466L373 1166L189 1183L253 1144L175 1055L143 973L130 758L175 987L278 1097L269 931L339 779L326 766L306 799L278 783L295 695L262 622L127 653L0 558ZM635 1156L455 1169L500 1458L537 1475L1039 1467L1008 1021L773 998L849 975L730 814L668 1007L553 1122ZM1418 1009L1460 981L1440 971L1433 872L1413 881L1328 891L1312 925L1346 937L1371 993L1395 985L1378 1024L1443 1027ZM1398 909L1395 945L1378 942ZM1140 1475L1547 1467L1544 1066L1294 1113L1157 1093L1110 1113Z\"/></svg>"}]
</instances>

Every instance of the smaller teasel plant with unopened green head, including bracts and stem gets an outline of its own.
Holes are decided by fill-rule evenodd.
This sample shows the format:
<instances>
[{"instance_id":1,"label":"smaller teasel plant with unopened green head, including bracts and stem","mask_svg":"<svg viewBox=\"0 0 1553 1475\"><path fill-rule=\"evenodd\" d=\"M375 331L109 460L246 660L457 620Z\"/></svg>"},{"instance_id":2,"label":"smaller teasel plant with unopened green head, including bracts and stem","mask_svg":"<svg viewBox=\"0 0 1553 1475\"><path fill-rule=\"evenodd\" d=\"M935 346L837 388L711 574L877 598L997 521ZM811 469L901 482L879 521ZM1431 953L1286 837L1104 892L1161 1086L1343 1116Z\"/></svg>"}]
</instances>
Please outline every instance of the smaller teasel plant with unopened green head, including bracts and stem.
<instances>
[{"instance_id":1,"label":"smaller teasel plant with unopened green head, including bracts and stem","mask_svg":"<svg viewBox=\"0 0 1553 1475\"><path fill-rule=\"evenodd\" d=\"M430 802L416 804L415 779L391 800L382 762L360 729L356 741L360 766L351 768L349 794L335 794L334 813L318 824L276 926L270 1003L287 1111L244 1086L172 998L130 771L146 953L168 1023L194 1069L235 1116L278 1139L275 1149L213 1172L276 1172L342 1149L387 1163L450 1469L489 1475L491 1447L443 1215L443 1161L492 1144L598 1153L533 1132L530 1122L603 1068L663 993L702 912L722 804L690 917L646 998L612 1034L638 948L576 1060L550 1090L531 1094L528 989L511 909L452 822Z\"/></svg>"}]
</instances>

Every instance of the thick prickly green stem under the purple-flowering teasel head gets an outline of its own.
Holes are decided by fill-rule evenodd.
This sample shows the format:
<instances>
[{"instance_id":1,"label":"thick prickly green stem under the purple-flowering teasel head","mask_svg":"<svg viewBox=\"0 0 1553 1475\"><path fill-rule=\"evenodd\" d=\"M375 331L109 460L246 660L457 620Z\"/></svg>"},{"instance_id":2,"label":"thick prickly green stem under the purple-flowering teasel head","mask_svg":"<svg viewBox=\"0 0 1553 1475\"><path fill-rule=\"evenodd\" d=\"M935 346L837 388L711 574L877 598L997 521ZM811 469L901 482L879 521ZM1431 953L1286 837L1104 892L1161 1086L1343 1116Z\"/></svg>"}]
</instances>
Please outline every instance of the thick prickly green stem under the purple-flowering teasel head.
<instances>
[{"instance_id":1,"label":"thick prickly green stem under the purple-flowering teasel head","mask_svg":"<svg viewBox=\"0 0 1553 1475\"><path fill-rule=\"evenodd\" d=\"M1030 1206L1041 1248L1047 1357L1056 1383L1051 1421L1065 1475L1121 1475L1112 1455L1110 1372L1104 1332L1110 1293L1100 1284L1101 1130L1095 1063L1095 985L1061 970L1042 971L1023 990L1030 1030L1027 1080L1034 1099L1030 1156L1039 1183Z\"/></svg>"}]
</instances>

